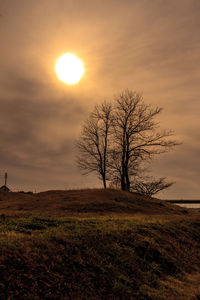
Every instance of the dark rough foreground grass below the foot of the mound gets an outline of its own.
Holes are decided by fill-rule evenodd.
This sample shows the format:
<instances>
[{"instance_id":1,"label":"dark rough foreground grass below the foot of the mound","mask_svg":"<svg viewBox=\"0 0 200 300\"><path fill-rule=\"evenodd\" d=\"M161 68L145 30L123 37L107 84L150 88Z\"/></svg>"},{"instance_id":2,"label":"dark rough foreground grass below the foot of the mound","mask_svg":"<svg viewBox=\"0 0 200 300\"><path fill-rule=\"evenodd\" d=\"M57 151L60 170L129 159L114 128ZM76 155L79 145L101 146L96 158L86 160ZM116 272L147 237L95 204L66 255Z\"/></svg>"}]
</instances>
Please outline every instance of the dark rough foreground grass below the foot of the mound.
<instances>
[{"instance_id":1,"label":"dark rough foreground grass below the foot of the mound","mask_svg":"<svg viewBox=\"0 0 200 300\"><path fill-rule=\"evenodd\" d=\"M3 218L0 299L198 299L200 219L184 218Z\"/></svg>"}]
</instances>

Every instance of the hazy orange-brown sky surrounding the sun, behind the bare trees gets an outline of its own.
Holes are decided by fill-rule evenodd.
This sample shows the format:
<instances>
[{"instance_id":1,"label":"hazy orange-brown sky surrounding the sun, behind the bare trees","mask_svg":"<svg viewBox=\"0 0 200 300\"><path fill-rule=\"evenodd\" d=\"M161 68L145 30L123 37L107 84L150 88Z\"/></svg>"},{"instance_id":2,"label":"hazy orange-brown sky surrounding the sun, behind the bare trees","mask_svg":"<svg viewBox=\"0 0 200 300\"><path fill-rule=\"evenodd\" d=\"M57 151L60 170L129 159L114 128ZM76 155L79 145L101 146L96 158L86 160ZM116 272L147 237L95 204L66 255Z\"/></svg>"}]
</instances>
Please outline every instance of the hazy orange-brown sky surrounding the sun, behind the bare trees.
<instances>
[{"instance_id":1,"label":"hazy orange-brown sky surrounding the sun, behind the bare trees","mask_svg":"<svg viewBox=\"0 0 200 300\"><path fill-rule=\"evenodd\" d=\"M94 104L129 88L163 107L161 128L183 142L152 165L176 181L160 196L200 198L199 0L0 0L0 14L0 174L11 189L100 184L80 175L74 141ZM78 85L55 74L65 52L85 64Z\"/></svg>"}]
</instances>

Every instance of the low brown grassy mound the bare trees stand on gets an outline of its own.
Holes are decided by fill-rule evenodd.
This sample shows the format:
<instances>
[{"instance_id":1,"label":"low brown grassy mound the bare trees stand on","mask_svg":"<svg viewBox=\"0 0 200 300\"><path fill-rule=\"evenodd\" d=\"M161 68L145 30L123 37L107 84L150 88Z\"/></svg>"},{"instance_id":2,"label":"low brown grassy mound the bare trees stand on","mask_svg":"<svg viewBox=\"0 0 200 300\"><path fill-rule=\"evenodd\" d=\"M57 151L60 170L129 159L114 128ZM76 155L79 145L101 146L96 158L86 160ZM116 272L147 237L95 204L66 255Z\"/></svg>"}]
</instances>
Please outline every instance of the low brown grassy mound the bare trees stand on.
<instances>
[{"instance_id":1,"label":"low brown grassy mound the bare trees stand on","mask_svg":"<svg viewBox=\"0 0 200 300\"><path fill-rule=\"evenodd\" d=\"M0 193L0 213L50 213L51 216L70 215L135 215L184 213L176 205L163 200L119 190L47 191L37 194Z\"/></svg>"}]
</instances>

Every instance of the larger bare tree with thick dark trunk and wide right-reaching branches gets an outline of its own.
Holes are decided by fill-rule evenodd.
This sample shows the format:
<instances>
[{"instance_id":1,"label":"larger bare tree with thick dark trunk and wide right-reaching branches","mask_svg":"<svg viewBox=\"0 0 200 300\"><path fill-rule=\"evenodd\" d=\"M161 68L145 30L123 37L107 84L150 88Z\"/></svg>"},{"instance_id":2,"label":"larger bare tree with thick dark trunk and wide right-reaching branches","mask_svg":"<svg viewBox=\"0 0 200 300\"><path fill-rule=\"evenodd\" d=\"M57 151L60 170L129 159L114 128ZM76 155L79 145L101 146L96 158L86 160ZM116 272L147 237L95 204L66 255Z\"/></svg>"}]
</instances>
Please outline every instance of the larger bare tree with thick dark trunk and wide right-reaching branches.
<instances>
[{"instance_id":1,"label":"larger bare tree with thick dark trunk and wide right-reaching branches","mask_svg":"<svg viewBox=\"0 0 200 300\"><path fill-rule=\"evenodd\" d=\"M114 148L118 170L121 176L121 189L130 191L131 177L140 161L150 160L155 154L164 153L178 143L171 140L172 131L158 132L155 117L161 108L145 105L139 93L123 91L115 98ZM115 165L110 168L116 170ZM134 178L134 176L133 176Z\"/></svg>"}]
</instances>

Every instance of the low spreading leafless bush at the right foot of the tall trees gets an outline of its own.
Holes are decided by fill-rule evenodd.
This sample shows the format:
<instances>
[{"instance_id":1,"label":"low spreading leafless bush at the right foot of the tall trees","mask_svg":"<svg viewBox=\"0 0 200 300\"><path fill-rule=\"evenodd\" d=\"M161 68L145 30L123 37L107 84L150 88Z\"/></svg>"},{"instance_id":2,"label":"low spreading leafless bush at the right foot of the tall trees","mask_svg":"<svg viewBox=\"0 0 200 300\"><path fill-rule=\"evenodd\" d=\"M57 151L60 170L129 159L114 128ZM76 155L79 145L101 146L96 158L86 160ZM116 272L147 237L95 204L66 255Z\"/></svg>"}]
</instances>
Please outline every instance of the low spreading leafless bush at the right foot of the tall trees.
<instances>
[{"instance_id":1,"label":"low spreading leafless bush at the right foot of the tall trees","mask_svg":"<svg viewBox=\"0 0 200 300\"><path fill-rule=\"evenodd\" d=\"M166 182L165 178L159 178L152 181L136 181L132 187L134 192L146 196L153 196L158 192L169 188L174 182Z\"/></svg>"}]
</instances>

